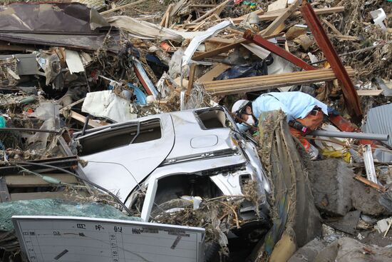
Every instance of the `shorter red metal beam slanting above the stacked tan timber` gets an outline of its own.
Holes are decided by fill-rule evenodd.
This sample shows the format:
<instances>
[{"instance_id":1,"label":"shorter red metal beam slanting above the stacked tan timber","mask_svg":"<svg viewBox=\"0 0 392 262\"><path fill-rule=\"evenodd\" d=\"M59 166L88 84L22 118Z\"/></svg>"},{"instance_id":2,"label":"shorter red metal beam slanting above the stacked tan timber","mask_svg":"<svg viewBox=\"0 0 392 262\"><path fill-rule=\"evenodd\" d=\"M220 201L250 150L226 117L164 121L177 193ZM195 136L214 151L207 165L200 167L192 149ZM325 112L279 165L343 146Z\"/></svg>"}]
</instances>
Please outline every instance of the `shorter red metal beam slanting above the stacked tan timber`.
<instances>
[{"instance_id":1,"label":"shorter red metal beam slanting above the stacked tan timber","mask_svg":"<svg viewBox=\"0 0 392 262\"><path fill-rule=\"evenodd\" d=\"M281 49L276 44L271 43L267 39L264 39L262 36L258 34L253 34L252 31L247 30L244 32L244 39L254 42L258 46L262 46L262 48L271 51L274 54L286 59L287 61L292 62L296 66L301 67L301 69L305 69L306 71L315 70L314 66L307 64L304 60L299 59L298 57L294 56L293 54L289 53L288 51Z\"/></svg>"}]
</instances>

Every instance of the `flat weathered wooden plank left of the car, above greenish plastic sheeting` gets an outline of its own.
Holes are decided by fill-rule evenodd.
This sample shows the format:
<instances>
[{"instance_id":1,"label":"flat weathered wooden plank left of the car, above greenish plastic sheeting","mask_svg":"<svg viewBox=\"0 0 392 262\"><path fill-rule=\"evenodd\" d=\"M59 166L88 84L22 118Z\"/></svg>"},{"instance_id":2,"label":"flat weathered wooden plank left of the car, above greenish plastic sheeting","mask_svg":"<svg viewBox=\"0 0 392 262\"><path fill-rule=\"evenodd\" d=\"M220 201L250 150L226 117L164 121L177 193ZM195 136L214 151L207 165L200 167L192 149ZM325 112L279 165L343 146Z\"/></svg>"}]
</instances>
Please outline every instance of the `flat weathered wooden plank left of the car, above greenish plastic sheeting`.
<instances>
[{"instance_id":1,"label":"flat weathered wooden plank left of the car, above greenish plastic sheeting","mask_svg":"<svg viewBox=\"0 0 392 262\"><path fill-rule=\"evenodd\" d=\"M62 183L73 183L77 184L78 179L75 176L64 175L62 173L48 173L43 174L43 176L50 176L60 180ZM51 186L51 183L44 181L39 176L34 175L8 175L4 176L6 178L6 185L12 188L16 187L38 187L38 186Z\"/></svg>"}]
</instances>

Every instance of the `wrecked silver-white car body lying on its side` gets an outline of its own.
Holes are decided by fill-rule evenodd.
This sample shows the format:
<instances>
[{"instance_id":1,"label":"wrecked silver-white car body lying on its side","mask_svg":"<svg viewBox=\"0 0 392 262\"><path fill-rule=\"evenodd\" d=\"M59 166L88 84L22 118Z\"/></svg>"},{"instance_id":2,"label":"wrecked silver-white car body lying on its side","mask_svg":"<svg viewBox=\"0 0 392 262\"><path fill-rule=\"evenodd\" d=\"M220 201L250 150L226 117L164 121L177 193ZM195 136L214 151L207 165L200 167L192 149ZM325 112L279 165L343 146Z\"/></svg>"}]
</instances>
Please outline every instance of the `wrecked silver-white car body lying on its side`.
<instances>
[{"instance_id":1,"label":"wrecked silver-white car body lying on its side","mask_svg":"<svg viewBox=\"0 0 392 262\"><path fill-rule=\"evenodd\" d=\"M239 216L257 221L255 225L268 224L270 189L256 146L237 131L224 107L89 129L76 133L75 140L87 162L87 178L117 193L131 210L140 211L143 221L181 196L240 196L244 183L257 181L262 203L244 201Z\"/></svg>"}]
</instances>

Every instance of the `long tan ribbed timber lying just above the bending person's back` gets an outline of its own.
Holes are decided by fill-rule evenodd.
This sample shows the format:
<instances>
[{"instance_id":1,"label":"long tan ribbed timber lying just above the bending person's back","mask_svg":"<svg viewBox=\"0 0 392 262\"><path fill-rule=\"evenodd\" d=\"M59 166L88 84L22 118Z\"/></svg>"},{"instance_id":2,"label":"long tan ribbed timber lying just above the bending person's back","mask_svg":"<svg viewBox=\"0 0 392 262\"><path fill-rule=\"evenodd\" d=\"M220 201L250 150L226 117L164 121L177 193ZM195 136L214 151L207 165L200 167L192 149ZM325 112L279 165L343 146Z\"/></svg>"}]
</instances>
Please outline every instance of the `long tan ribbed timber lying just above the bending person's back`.
<instances>
[{"instance_id":1,"label":"long tan ribbed timber lying just above the bending person's back","mask_svg":"<svg viewBox=\"0 0 392 262\"><path fill-rule=\"evenodd\" d=\"M346 70L350 76L354 76L354 69L346 67ZM274 89L282 86L311 84L334 79L336 79L336 76L332 69L316 69L294 73L244 77L242 79L205 81L203 84L207 92L225 95Z\"/></svg>"}]
</instances>

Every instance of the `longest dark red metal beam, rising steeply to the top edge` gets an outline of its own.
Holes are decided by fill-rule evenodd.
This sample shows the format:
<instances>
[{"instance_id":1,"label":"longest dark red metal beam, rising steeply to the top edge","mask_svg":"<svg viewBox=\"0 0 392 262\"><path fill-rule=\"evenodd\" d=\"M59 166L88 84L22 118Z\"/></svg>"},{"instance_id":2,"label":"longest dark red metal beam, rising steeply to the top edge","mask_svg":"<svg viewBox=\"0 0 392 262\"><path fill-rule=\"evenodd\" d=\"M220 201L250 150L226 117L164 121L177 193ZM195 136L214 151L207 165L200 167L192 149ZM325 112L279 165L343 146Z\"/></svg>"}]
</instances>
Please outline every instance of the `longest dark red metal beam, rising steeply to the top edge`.
<instances>
[{"instance_id":1,"label":"longest dark red metal beam, rising steeply to the top edge","mask_svg":"<svg viewBox=\"0 0 392 262\"><path fill-rule=\"evenodd\" d=\"M351 116L360 118L362 116L361 105L359 104L359 98L354 89L354 84L351 81L349 74L347 74L338 54L336 54L334 46L326 35L326 31L324 31L323 26L321 26L319 18L306 0L302 2L301 13L302 16L304 16L306 24L308 24L314 39L316 39L321 51L323 51L326 60L331 65L336 79L342 84L347 110Z\"/></svg>"}]
</instances>

